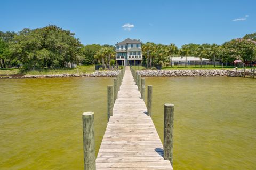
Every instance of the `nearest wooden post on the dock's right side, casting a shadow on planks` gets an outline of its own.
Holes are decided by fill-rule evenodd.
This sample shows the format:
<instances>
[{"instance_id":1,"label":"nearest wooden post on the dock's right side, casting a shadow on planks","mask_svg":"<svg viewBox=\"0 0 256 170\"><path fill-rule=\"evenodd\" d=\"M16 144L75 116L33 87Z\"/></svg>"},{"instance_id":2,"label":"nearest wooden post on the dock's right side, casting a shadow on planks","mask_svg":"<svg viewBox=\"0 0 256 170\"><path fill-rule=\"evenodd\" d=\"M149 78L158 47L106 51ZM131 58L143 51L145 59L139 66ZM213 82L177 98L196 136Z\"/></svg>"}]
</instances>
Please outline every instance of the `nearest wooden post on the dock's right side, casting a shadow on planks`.
<instances>
[{"instance_id":1,"label":"nearest wooden post on the dock's right side, casting a shadow on planks","mask_svg":"<svg viewBox=\"0 0 256 170\"><path fill-rule=\"evenodd\" d=\"M173 165L174 104L164 104L164 159Z\"/></svg>"}]
</instances>

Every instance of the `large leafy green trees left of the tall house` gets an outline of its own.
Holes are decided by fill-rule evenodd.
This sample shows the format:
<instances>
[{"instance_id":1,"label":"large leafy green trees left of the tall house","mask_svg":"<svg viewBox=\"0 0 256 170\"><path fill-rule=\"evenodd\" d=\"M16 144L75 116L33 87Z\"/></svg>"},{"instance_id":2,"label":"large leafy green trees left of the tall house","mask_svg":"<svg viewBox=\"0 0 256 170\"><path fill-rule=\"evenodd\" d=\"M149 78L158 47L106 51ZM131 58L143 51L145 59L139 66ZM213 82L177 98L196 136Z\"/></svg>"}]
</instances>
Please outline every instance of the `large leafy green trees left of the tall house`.
<instances>
[{"instance_id":1,"label":"large leafy green trees left of the tall house","mask_svg":"<svg viewBox=\"0 0 256 170\"><path fill-rule=\"evenodd\" d=\"M19 33L0 31L0 68L22 65L22 69L70 67L70 64L95 64L94 55L111 45L81 44L69 30L49 25L43 28L25 28Z\"/></svg>"}]
</instances>

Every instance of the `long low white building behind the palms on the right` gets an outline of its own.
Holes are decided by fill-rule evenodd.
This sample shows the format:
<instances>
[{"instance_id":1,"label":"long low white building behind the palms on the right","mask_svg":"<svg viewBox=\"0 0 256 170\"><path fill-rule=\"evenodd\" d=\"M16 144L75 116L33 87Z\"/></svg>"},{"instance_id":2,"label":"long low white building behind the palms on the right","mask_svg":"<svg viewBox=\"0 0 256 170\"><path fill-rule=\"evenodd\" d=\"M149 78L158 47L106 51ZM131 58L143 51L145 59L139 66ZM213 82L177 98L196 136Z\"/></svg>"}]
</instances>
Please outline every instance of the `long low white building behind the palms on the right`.
<instances>
[{"instance_id":1,"label":"long low white building behind the palms on the right","mask_svg":"<svg viewBox=\"0 0 256 170\"><path fill-rule=\"evenodd\" d=\"M171 60L171 58L170 58ZM185 65L186 57L185 56L173 56L172 58L172 65ZM202 63L208 63L209 59L202 59ZM199 64L200 58L196 56L187 56L187 64L193 65L193 64Z\"/></svg>"}]
</instances>

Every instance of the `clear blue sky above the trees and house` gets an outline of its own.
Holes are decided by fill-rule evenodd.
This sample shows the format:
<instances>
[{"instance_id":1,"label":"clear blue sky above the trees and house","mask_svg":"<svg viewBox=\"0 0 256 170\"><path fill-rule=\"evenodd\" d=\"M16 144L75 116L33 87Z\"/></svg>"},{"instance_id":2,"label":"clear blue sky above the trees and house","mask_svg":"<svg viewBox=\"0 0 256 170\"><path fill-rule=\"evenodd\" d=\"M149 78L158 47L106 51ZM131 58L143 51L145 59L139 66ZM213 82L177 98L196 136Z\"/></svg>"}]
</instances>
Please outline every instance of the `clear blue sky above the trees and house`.
<instances>
[{"instance_id":1,"label":"clear blue sky above the trees and house","mask_svg":"<svg viewBox=\"0 0 256 170\"><path fill-rule=\"evenodd\" d=\"M57 25L83 44L126 38L162 44L222 44L256 32L255 0L1 1L0 30ZM122 27L124 26L124 27Z\"/></svg>"}]
</instances>

